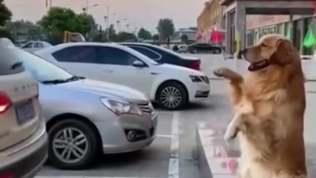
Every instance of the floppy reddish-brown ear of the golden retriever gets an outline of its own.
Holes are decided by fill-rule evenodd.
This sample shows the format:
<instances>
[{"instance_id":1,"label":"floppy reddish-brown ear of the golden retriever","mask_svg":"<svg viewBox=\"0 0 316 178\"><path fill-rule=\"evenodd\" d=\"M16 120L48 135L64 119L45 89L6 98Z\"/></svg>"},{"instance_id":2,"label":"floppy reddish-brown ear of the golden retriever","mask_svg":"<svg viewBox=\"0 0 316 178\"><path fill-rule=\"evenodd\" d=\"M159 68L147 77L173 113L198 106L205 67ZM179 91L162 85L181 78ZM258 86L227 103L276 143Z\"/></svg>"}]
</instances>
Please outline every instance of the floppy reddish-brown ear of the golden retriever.
<instances>
[{"instance_id":1,"label":"floppy reddish-brown ear of the golden retriever","mask_svg":"<svg viewBox=\"0 0 316 178\"><path fill-rule=\"evenodd\" d=\"M287 39L278 39L276 42L276 51L271 56L271 61L278 64L291 63L294 55L294 46Z\"/></svg>"}]
</instances>

